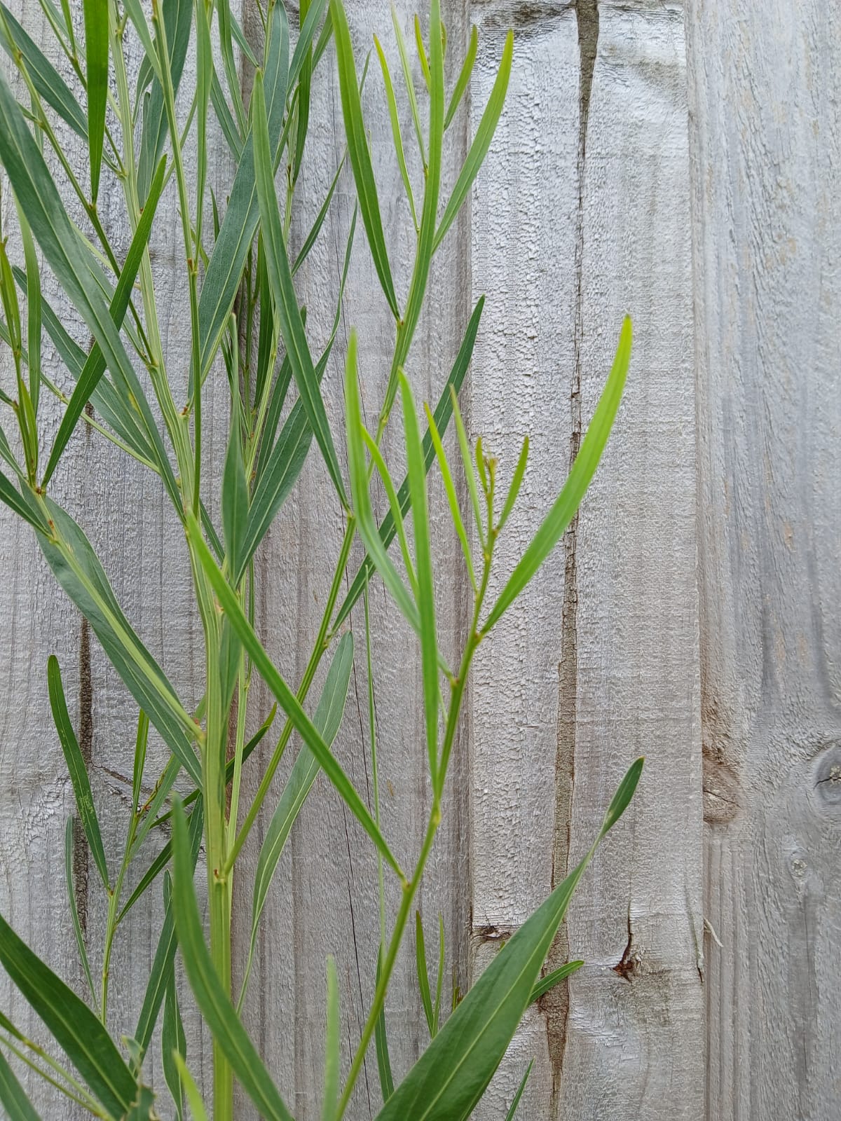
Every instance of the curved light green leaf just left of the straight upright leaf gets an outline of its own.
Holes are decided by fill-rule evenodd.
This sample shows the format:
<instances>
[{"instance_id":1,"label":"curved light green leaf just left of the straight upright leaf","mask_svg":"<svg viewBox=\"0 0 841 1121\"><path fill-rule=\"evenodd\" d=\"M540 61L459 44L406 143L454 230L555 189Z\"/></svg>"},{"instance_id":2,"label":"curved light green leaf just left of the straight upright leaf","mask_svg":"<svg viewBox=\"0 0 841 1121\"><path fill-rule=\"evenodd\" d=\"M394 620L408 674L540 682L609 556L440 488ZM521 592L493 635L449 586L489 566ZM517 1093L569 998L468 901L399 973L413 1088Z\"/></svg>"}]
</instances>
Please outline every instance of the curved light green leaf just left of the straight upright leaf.
<instances>
[{"instance_id":1,"label":"curved light green leaf just left of the straight upright leaf","mask_svg":"<svg viewBox=\"0 0 841 1121\"><path fill-rule=\"evenodd\" d=\"M412 624L416 632L420 630L417 606L414 603L406 585L391 564L386 546L377 530L371 509L371 497L368 490L368 464L366 462L364 443L362 437L362 409L359 401L359 374L357 371L357 333L351 332L348 343L348 358L345 361L344 376L344 402L348 426L348 463L351 476L351 493L353 495L353 511L357 516L357 524L362 543L368 549L373 566L382 577L382 581L390 592L392 599L400 609L403 617Z\"/></svg>"}]
</instances>

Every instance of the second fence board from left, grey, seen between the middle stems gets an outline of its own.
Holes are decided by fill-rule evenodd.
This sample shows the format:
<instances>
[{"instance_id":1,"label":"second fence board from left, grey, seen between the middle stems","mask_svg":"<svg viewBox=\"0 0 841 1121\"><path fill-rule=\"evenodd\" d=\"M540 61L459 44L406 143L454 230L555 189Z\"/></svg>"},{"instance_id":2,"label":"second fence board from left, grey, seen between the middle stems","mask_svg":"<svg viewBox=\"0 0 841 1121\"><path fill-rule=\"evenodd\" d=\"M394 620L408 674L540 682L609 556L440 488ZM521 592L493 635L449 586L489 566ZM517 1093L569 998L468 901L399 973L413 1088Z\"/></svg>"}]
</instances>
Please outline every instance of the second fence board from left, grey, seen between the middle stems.
<instances>
[{"instance_id":1,"label":"second fence board from left, grey, seen between the middle stems","mask_svg":"<svg viewBox=\"0 0 841 1121\"><path fill-rule=\"evenodd\" d=\"M361 68L372 33L380 38L391 66L401 109L403 135L415 185L416 204L422 202L423 173L414 148L408 105L401 86L389 4L345 4L351 24L357 61ZM413 58L415 4L398 3L398 18L410 45ZM449 54L463 52L466 26L461 4L443 4L447 24ZM292 16L295 24L295 16ZM452 57L449 81L454 75ZM422 78L416 68L416 90ZM363 105L371 135L372 160L379 188L386 239L398 299L405 303L414 260L415 232L403 198L403 186L394 156L386 111L382 78L376 55L370 61ZM447 132L450 155L445 160L446 191L465 154L465 118ZM331 45L313 82L311 135L302 166L293 221L293 243L299 245L315 217L344 149L341 102L335 55ZM307 307L307 334L313 352L325 345L339 295L339 274L355 202L355 188L345 168L324 230L307 265L297 276L298 294ZM431 290L435 293L422 319L407 362L418 407L422 399L437 400L461 343L470 314L466 278L468 231L464 222L453 229L436 256ZM357 223L351 270L345 290L342 322L335 350L327 367L323 393L345 467L343 441L343 370L346 339L351 327L359 331L360 390L366 423L373 432L383 398L388 364L394 348L394 319L373 269L361 219ZM294 396L294 390L293 390ZM383 438L383 450L395 479L405 472L403 426L395 408ZM388 507L379 484L372 488L377 517ZM436 487L431 495L436 527L446 524L445 499ZM287 680L297 684L315 639L323 604L339 554L344 521L317 448L313 446L301 482L280 512L259 560L258 623L267 649ZM355 574L362 552L354 545L343 592ZM436 546L438 628L450 655L462 641L465 580L459 568L458 546L445 535ZM342 594L343 594L342 592ZM371 617L375 646L375 691L380 765L383 832L404 867L412 869L426 826L429 806L426 750L423 731L420 664L416 640L399 621L397 609L381 582L371 584ZM361 602L348 624L355 643L355 667L344 721L335 751L363 798L372 805L372 776L368 732L364 624ZM324 668L324 664L322 670ZM308 702L313 710L323 671L316 678ZM262 752L265 766L274 744ZM268 814L279 799L283 780L298 750L295 740L289 758L281 763L279 780L268 799L267 813L255 828L253 843L243 850L238 878L241 906L234 908L237 953L242 956L250 926L251 889L259 844ZM452 796L444 810L444 825L429 878L418 897L427 936L436 943L437 914L444 916L447 941L447 980L455 969L462 989L466 983L466 910L469 897L460 884L466 882L466 852L463 816L466 782L463 753L454 760ZM253 776L252 776L253 779ZM251 786L251 790L253 786ZM460 791L460 793L459 793ZM243 795L244 796L244 795ZM399 886L386 872L388 926L399 902ZM279 1080L298 1121L321 1115L323 1048L325 1026L325 957L333 954L339 969L342 1006L342 1063L346 1074L355 1051L375 986L379 912L376 855L369 840L330 784L318 778L296 823L287 851L272 884L258 942L244 1019L260 1041L270 1069ZM387 1001L389 1043L395 1081L399 1081L417 1058L426 1035L415 978L414 921L398 958ZM449 985L445 984L445 992ZM377 1060L371 1047L348 1115L373 1117L381 1105ZM240 1101L242 1117L252 1117L250 1105ZM240 1113L238 1113L240 1115Z\"/></svg>"}]
</instances>

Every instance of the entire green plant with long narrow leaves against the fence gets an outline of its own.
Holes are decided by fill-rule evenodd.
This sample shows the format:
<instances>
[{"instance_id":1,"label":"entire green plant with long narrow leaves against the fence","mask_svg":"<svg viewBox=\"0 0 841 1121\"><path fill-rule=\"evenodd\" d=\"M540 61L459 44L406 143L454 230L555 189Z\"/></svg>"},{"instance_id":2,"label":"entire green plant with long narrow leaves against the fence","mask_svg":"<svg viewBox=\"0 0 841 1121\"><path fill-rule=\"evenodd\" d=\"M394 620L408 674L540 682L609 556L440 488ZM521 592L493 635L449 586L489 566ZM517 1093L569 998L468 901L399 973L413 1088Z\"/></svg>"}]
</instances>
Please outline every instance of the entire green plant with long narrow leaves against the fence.
<instances>
[{"instance_id":1,"label":"entire green plant with long narrow leaves against the fence","mask_svg":"<svg viewBox=\"0 0 841 1121\"><path fill-rule=\"evenodd\" d=\"M340 0L330 0L329 4L327 0L302 0L294 49L283 3L269 2L266 9L258 3L265 29L260 58L255 57L228 0L215 3L213 0L172 0L167 3L153 0L150 22L139 0L123 0L121 7L115 0L85 0L83 28L77 26L77 19L74 22L66 0L62 0L61 9L53 0L39 2L58 48L66 55L75 75L86 111L11 12L0 4L0 39L22 91L22 101L18 102L9 81L0 76L0 163L17 204L16 237L19 237L24 259L22 268L12 266L7 242L0 242L3 306L0 335L10 348L15 377L13 395L2 392L1 400L3 419L13 415L18 429L17 446L13 446L0 428L0 456L6 465L6 471L0 473L0 499L33 527L56 580L89 621L137 702L139 716L126 842L121 852L109 853L101 837L82 751L67 713L59 665L56 658L49 659L49 702L76 796L77 824L87 839L93 864L108 897L105 941L99 979L94 980L89 947L73 909L74 823L71 821L67 826L68 897L77 949L90 984L89 999L83 1001L68 989L2 918L0 961L76 1073L72 1074L0 1016L0 1102L15 1119L36 1115L7 1060L8 1054L48 1078L57 1093L94 1117L156 1117L155 1094L144 1083L144 1056L163 1009L163 1066L176 1114L184 1117L188 1105L194 1118L203 1117L204 1105L185 1054L175 983L177 948L193 995L213 1036L213 1117L216 1121L232 1118L234 1078L261 1115L290 1117L239 1018L251 954L246 964L242 991L235 1002L232 1000L231 891L237 858L257 815L268 809L271 780L293 732L297 732L301 739L298 754L260 851L253 886L251 953L280 852L301 806L323 771L376 846L381 928L376 990L360 1045L343 1084L335 965L327 962L323 1115L339 1119L345 1114L373 1041L383 1096L379 1113L382 1121L466 1118L502 1058L529 1002L580 964L571 963L548 978L539 978L570 897L599 841L630 800L641 761L628 771L590 852L498 954L443 1026L443 932L433 1000L423 927L417 918L418 983L431 1043L396 1087L388 1056L385 997L441 823L442 796L471 663L489 630L558 543L584 495L619 407L630 356L630 325L626 321L622 327L613 368L561 494L500 594L495 602L488 603L495 544L517 500L528 443L524 443L509 487L501 495L497 461L486 454L481 441L477 442L475 451L471 448L458 405L458 393L479 330L482 300L468 323L437 407L434 411L425 408L425 432L406 371L410 369L412 343L427 295L431 263L470 193L502 111L512 59L512 36L509 34L506 40L499 75L464 167L450 198L444 202L441 179L445 135L470 82L477 52L475 31L447 100L444 84L446 35L438 0L432 0L426 40L416 21L418 59L428 101L425 128L413 84L408 47L395 17L397 50L424 169L419 205L413 194L386 52L379 39L375 40L396 158L416 233L408 294L401 303L398 298L400 285L395 284L389 263L362 115L360 85L366 81L366 71L360 78ZM222 58L221 74L214 63L214 35ZM124 50L129 36L142 52L133 94ZM176 100L191 37L196 49L196 86L187 90L186 95L182 90ZM395 318L388 386L373 433L369 433L362 421L357 336L355 333L350 336L344 378L346 479L321 393L321 380L336 337L339 311L327 345L316 359L311 351L305 314L295 290L295 274L318 238L338 175L296 257L290 252L289 237L295 187L307 138L313 74L331 40L339 70L346 159L355 184L358 214L382 296ZM240 91L234 45L246 64L250 63L253 68L253 92L248 106ZM187 103L188 112L181 120L176 105L183 102ZM237 164L224 213L215 198L207 200L211 111L219 120ZM50 124L54 114L85 143L90 184L81 183L74 175L68 155ZM186 141L193 132L196 156L194 165L187 167ZM66 196L62 197L45 154L49 154L50 161L57 161L66 195L72 196L73 205L76 210L81 207L85 216L84 230L74 225L68 216ZM276 184L281 167L284 197L279 202ZM158 326L156 278L148 252L156 209L167 188L176 193L183 228L179 268L184 269L186 279L185 314L188 311L192 339L188 378L184 386L167 365ZM122 192L132 231L122 263L99 217L96 200L104 189ZM354 211L341 276L340 308L355 225ZM89 353L72 342L43 295L36 243L91 332L93 343ZM63 393L41 363L40 340L45 327L73 379L70 396ZM136 370L138 364L141 374ZM220 484L221 519L214 525L202 498L214 482L207 478L202 451L202 398L209 379L223 376L230 390L230 438ZM293 382L297 397L294 405L285 409ZM43 391L56 395L65 404L50 447L44 445L43 426L39 425ZM380 450L382 434L398 398L408 463L407 476L399 488ZM451 419L456 429L470 502L466 524L444 446L443 437ZM182 704L175 686L123 614L83 530L50 497L49 484L61 466L63 452L82 424L94 428L101 437L112 441L154 472L183 525L206 651L205 692L194 712ZM336 499L345 511L346 531L336 557L322 624L303 678L294 689L272 664L255 630L253 560L269 526L295 487L313 439ZM464 636L458 667L446 663L436 631L433 530L427 507L427 474L433 462L443 480L463 550L465 580L473 593L472 621ZM373 475L379 478L390 504L388 517L379 526L370 501ZM409 513L412 535L405 521ZM357 536L364 547L366 558L340 601ZM390 549L395 538L397 549ZM424 842L412 870L400 867L380 823L368 611L368 585L375 576L382 580L395 609L414 629L422 657L432 804ZM370 807L332 751L353 664L353 641L346 622L360 601L375 744ZM311 717L305 702L325 657L330 659L330 668ZM274 694L276 707L259 732L247 741L249 689L255 673ZM234 705L235 732L229 758L229 729ZM260 777L256 797L250 806L241 806L243 767L272 729L278 707L285 713L283 730ZM167 744L170 758L154 782L150 796L145 798L150 725ZM174 793L182 772L194 786L184 797ZM172 827L170 843L151 860L128 893L129 869L142 865L148 859L145 858L148 846L145 847L144 842L150 831L165 825ZM193 883L202 839L210 948ZM383 884L387 876L395 876L401 887L399 908L394 916L386 914ZM123 1037L121 1048L109 1031L111 952L121 921L158 878L163 879L165 918L137 1027L131 1036ZM160 1100L163 1087L155 1088Z\"/></svg>"}]
</instances>

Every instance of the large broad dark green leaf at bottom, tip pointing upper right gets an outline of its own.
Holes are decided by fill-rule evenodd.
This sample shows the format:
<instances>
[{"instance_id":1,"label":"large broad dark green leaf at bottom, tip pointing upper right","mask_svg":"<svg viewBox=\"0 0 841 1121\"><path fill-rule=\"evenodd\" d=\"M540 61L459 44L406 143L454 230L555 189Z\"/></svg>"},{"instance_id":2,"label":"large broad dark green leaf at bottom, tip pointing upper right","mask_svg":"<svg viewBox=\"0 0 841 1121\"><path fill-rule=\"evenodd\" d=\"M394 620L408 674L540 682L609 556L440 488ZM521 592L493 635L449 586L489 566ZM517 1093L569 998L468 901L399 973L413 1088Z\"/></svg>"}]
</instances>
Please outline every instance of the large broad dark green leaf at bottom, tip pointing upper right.
<instances>
[{"instance_id":1,"label":"large broad dark green leaf at bottom, tip pointing upper right","mask_svg":"<svg viewBox=\"0 0 841 1121\"><path fill-rule=\"evenodd\" d=\"M377 1114L377 1121L463 1121L470 1115L528 1007L573 891L599 841L628 805L640 772L641 760L637 760L590 852L497 954Z\"/></svg>"}]
</instances>

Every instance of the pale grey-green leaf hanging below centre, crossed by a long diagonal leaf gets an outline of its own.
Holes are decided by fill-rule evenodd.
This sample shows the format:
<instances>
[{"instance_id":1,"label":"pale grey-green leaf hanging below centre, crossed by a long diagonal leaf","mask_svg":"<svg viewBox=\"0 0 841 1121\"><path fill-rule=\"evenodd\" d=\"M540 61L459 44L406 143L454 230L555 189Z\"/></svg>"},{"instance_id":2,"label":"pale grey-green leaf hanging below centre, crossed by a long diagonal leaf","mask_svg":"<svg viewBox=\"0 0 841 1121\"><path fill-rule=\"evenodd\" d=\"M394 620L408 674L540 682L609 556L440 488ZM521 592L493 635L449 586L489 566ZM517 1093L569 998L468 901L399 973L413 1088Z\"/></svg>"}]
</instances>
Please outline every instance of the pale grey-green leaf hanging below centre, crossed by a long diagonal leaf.
<instances>
[{"instance_id":1,"label":"pale grey-green leaf hanging below centre, crossed by a long diagonal leaf","mask_svg":"<svg viewBox=\"0 0 841 1121\"><path fill-rule=\"evenodd\" d=\"M324 743L332 747L333 740L339 732L342 722L344 704L348 697L348 685L353 668L353 636L348 631L343 634L335 655L327 670L321 700L315 710L313 723L322 735ZM275 810L269 827L266 831L260 847L260 855L257 860L257 874L255 876L253 905L251 909L251 941L248 954L248 965L246 978L242 982L244 992L248 983L248 974L257 944L257 932L260 916L266 906L266 898L271 886L271 880L277 870L280 854L284 851L286 841L292 832L292 827L306 802L315 779L321 771L321 765L316 757L307 747L302 747L298 757L292 768L284 793L280 796L277 809ZM240 998L241 1002L242 998Z\"/></svg>"}]
</instances>

